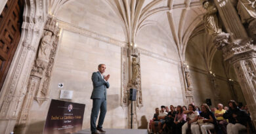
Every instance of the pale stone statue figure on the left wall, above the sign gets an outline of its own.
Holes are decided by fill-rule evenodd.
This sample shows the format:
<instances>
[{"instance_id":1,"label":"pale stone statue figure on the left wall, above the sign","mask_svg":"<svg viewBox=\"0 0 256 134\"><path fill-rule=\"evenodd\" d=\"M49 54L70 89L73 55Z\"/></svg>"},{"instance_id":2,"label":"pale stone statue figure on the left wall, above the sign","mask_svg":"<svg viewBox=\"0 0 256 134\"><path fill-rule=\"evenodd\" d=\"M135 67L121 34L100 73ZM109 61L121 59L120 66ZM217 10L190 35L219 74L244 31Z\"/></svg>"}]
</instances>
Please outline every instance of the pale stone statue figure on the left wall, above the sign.
<instances>
[{"instance_id":1,"label":"pale stone statue figure on the left wall, above the sign","mask_svg":"<svg viewBox=\"0 0 256 134\"><path fill-rule=\"evenodd\" d=\"M41 40L41 44L39 46L39 52L37 59L41 59L43 61L49 61L49 56L51 54L51 39L52 33L51 31L45 31L45 36Z\"/></svg>"}]
</instances>

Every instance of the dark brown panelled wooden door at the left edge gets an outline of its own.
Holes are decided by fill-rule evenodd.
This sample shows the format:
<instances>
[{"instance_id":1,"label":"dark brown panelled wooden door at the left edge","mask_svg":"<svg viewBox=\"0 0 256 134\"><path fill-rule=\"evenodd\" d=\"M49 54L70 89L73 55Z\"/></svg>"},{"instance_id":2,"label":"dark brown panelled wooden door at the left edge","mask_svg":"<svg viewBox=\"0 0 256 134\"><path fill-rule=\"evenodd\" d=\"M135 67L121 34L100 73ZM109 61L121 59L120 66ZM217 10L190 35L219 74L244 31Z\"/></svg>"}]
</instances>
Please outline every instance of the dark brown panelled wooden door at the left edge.
<instances>
[{"instance_id":1,"label":"dark brown panelled wooden door at the left edge","mask_svg":"<svg viewBox=\"0 0 256 134\"><path fill-rule=\"evenodd\" d=\"M0 15L0 91L20 41L22 13L23 1L9 0Z\"/></svg>"}]
</instances>

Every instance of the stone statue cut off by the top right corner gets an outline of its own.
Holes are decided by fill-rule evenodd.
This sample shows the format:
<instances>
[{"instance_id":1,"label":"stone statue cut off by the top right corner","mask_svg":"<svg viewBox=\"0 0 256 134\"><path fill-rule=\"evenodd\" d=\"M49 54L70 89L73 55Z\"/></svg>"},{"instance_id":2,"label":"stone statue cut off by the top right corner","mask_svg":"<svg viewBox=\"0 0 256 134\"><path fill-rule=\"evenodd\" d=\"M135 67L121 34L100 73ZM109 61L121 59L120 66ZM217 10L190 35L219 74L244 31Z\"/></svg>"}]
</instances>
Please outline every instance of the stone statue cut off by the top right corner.
<instances>
[{"instance_id":1,"label":"stone statue cut off by the top right corner","mask_svg":"<svg viewBox=\"0 0 256 134\"><path fill-rule=\"evenodd\" d=\"M242 23L251 22L256 18L255 0L238 0L237 10Z\"/></svg>"}]
</instances>

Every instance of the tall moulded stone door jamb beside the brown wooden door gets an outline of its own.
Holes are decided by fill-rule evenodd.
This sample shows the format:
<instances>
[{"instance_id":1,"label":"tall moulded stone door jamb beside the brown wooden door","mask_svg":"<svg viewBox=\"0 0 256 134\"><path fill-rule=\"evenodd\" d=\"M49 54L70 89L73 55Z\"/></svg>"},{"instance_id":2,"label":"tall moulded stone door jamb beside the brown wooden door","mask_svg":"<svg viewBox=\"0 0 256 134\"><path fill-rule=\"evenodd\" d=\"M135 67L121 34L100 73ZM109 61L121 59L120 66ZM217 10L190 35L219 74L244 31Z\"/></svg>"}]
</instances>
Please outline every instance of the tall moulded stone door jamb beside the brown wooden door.
<instances>
[{"instance_id":1,"label":"tall moulded stone door jamb beside the brown wooden door","mask_svg":"<svg viewBox=\"0 0 256 134\"><path fill-rule=\"evenodd\" d=\"M10 133L14 129L21 110L28 74L43 32L44 8L43 0L24 2L22 35L0 94L0 133Z\"/></svg>"}]
</instances>

